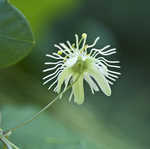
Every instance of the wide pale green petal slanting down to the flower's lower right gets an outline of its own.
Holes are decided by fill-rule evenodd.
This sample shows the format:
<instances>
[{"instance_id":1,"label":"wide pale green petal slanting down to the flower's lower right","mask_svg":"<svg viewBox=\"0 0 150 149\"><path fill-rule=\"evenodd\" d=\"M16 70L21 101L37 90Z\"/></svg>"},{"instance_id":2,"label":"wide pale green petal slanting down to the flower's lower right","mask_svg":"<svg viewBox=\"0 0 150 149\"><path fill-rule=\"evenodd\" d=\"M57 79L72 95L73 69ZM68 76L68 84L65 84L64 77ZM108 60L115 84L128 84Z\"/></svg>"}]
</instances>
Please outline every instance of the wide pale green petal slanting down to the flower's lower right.
<instances>
[{"instance_id":1,"label":"wide pale green petal slanting down to the flower's lower right","mask_svg":"<svg viewBox=\"0 0 150 149\"><path fill-rule=\"evenodd\" d=\"M104 74L96 67L96 65L91 64L89 69L87 70L88 73L95 79L98 83L101 90L107 95L111 95L111 88L107 79L105 78Z\"/></svg>"}]
</instances>

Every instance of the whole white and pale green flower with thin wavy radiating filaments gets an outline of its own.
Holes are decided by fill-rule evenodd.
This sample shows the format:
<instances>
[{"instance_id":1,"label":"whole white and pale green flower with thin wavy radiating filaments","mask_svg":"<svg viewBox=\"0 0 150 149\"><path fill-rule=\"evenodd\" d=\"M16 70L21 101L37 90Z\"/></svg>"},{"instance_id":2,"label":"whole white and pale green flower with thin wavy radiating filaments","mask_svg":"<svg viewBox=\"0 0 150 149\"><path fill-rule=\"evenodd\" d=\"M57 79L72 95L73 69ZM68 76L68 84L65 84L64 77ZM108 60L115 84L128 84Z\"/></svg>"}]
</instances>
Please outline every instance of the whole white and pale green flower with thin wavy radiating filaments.
<instances>
[{"instance_id":1,"label":"whole white and pale green flower with thin wavy radiating filaments","mask_svg":"<svg viewBox=\"0 0 150 149\"><path fill-rule=\"evenodd\" d=\"M104 58L116 53L116 49L109 49L110 45L105 46L102 49L95 49L99 37L96 38L93 44L86 44L87 34L83 33L79 40L78 35L75 35L76 42L71 44L67 41L67 44L60 43L54 45L59 49L57 53L47 54L47 57L53 59L52 62L46 62L45 65L50 65L50 68L43 70L43 72L54 71L46 75L43 80L43 84L47 84L51 80L55 80L50 86L53 86L54 91L60 93L62 85L64 84L63 91L67 86L77 80L73 86L70 94L69 101L74 95L74 102L82 104L84 102L84 85L85 80L92 93L99 91L99 88L105 93L105 95L111 95L110 84L112 81L116 81L119 72L109 70L108 67L120 68L115 65L119 61L110 61Z\"/></svg>"}]
</instances>

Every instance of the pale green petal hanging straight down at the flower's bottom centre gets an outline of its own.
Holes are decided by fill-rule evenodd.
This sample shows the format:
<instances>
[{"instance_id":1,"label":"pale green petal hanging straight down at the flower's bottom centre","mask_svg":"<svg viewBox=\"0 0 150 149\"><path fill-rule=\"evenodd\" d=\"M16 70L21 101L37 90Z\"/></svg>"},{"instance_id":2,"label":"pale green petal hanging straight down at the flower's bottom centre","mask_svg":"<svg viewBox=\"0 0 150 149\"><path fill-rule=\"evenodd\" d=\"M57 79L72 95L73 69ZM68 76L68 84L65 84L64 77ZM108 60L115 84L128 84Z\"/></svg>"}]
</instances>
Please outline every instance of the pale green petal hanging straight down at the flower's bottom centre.
<instances>
[{"instance_id":1,"label":"pale green petal hanging straight down at the flower's bottom centre","mask_svg":"<svg viewBox=\"0 0 150 149\"><path fill-rule=\"evenodd\" d=\"M76 79L77 77L75 77ZM74 79L74 80L75 80ZM84 87L83 87L83 75L81 75L77 82L72 86L73 94L74 94L74 101L77 104L82 104L84 102Z\"/></svg>"}]
</instances>

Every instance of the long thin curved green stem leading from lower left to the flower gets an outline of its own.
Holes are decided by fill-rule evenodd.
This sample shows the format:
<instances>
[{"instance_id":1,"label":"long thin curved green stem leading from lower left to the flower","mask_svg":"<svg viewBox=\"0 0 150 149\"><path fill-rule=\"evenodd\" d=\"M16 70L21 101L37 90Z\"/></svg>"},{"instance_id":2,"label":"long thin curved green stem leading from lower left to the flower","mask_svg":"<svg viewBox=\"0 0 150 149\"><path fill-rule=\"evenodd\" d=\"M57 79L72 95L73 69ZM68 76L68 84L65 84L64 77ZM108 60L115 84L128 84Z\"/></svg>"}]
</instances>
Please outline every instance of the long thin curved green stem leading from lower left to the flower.
<instances>
[{"instance_id":1,"label":"long thin curved green stem leading from lower left to the flower","mask_svg":"<svg viewBox=\"0 0 150 149\"><path fill-rule=\"evenodd\" d=\"M57 99L59 99L59 97L61 97L66 91L68 91L72 87L72 85L76 83L76 81L78 80L78 78L72 84L70 84L65 91L62 91L61 93L59 93L54 100L52 100L49 104L47 104L39 112L37 112L36 114L34 114L29 120L24 121L23 123L17 125L16 127L9 129L8 131L6 131L6 133L7 132L15 131L16 129L21 128L21 127L23 127L23 126L31 123L33 120L35 120L42 112L46 111L53 103L55 103L57 101Z\"/></svg>"}]
</instances>

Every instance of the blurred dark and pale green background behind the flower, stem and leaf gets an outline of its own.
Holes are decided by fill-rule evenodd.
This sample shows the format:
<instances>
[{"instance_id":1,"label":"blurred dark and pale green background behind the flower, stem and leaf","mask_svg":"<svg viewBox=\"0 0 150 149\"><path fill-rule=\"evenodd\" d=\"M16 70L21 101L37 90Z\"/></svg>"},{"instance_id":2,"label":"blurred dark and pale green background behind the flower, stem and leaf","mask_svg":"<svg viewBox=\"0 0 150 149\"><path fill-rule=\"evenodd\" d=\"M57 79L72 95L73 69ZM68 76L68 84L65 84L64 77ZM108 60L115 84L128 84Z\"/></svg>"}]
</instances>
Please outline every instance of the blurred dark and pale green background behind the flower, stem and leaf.
<instances>
[{"instance_id":1,"label":"blurred dark and pale green background behind the flower, stem and leaf","mask_svg":"<svg viewBox=\"0 0 150 149\"><path fill-rule=\"evenodd\" d=\"M100 36L100 48L106 44L117 47L118 58L112 58L120 60L122 66L121 79L112 87L111 97L92 95L85 84L82 106L68 103L65 95L39 119L14 132L11 141L20 148L31 144L33 149L38 149L37 145L43 149L149 149L150 1L49 0L47 5L38 0L11 2L40 36L28 58L0 72L3 128L28 119L55 97L41 85L44 55L56 50L55 43L73 42L74 33L88 33L90 43Z\"/></svg>"}]
</instances>

